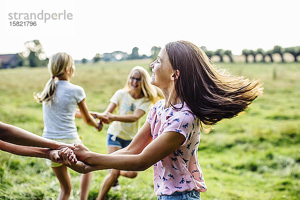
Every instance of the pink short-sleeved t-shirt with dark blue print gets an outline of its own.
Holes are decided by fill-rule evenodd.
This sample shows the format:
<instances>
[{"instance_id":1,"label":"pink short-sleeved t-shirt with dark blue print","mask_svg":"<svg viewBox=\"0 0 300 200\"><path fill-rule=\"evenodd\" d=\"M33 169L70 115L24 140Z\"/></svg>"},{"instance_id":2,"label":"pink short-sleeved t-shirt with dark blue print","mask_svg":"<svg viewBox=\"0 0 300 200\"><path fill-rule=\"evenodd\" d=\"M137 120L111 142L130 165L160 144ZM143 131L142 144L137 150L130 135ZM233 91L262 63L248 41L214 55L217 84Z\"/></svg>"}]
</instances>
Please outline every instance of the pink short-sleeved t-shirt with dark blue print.
<instances>
[{"instance_id":1,"label":"pink short-sleeved t-shirt with dark blue print","mask_svg":"<svg viewBox=\"0 0 300 200\"><path fill-rule=\"evenodd\" d=\"M165 100L161 99L148 112L146 120L150 124L152 139L159 139L163 132L175 131L183 134L185 141L153 165L154 192L156 195L192 189L205 192L207 188L197 156L200 141L198 117L191 113L186 103L180 110L164 109L164 106ZM180 108L181 103L174 106Z\"/></svg>"}]
</instances>

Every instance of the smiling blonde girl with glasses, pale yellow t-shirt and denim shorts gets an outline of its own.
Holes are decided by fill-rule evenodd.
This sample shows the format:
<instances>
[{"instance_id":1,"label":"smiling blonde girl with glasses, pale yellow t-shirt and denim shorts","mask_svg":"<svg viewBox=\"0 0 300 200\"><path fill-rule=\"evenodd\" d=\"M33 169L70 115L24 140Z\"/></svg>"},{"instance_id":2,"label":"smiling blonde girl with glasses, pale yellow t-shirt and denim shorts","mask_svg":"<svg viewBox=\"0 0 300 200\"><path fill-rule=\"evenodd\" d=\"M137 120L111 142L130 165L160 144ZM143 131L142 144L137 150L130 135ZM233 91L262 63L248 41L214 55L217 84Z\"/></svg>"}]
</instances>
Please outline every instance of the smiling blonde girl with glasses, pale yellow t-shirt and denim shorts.
<instances>
[{"instance_id":1,"label":"smiling blonde girl with glasses, pale yellow t-shirt and denim shorts","mask_svg":"<svg viewBox=\"0 0 300 200\"><path fill-rule=\"evenodd\" d=\"M158 88L150 84L150 75L141 66L135 66L128 74L124 88L117 90L110 98L104 116L113 121L107 129L107 151L112 153L126 147L140 124L140 117L150 108L150 104L157 100ZM161 96L161 95L160 95ZM116 108L117 114L112 114ZM134 178L136 171L120 171L110 169L102 181L97 199L103 199L111 186L119 187L119 175Z\"/></svg>"}]
</instances>

